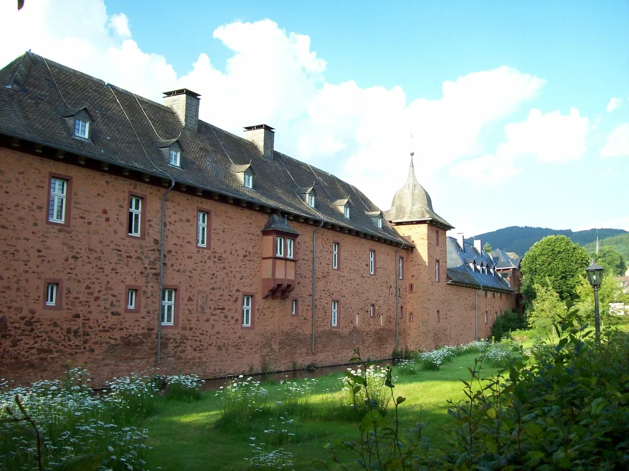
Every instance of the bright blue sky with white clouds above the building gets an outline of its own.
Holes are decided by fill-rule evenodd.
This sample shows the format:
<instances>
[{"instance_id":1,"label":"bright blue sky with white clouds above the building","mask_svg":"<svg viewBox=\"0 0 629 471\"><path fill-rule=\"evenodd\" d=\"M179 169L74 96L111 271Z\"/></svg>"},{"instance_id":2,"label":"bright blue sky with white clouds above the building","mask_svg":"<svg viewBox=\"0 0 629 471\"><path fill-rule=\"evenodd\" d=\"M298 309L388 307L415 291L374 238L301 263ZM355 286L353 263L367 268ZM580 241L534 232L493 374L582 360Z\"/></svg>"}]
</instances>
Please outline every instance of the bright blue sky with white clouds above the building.
<instances>
[{"instance_id":1,"label":"bright blue sky with white clouds above the building","mask_svg":"<svg viewBox=\"0 0 629 471\"><path fill-rule=\"evenodd\" d=\"M264 120L278 150L381 209L413 148L435 210L466 235L629 230L627 2L29 0L0 13L19 31L0 62L32 48L157 101L190 87L202 118L234 133Z\"/></svg>"}]
</instances>

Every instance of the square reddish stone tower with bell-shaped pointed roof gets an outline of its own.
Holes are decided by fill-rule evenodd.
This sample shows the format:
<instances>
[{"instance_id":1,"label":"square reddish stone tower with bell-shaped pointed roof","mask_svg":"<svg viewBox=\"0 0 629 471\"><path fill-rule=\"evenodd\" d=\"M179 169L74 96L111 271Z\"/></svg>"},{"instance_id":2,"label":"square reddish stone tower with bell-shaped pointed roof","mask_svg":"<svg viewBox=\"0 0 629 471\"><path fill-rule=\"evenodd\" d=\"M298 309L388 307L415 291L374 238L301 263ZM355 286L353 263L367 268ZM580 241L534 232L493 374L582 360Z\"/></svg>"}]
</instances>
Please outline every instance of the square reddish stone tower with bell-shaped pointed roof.
<instances>
[{"instance_id":1,"label":"square reddish stone tower with bell-shaped pointed roof","mask_svg":"<svg viewBox=\"0 0 629 471\"><path fill-rule=\"evenodd\" d=\"M404 260L401 282L406 285L406 299L400 299L405 313L400 317L400 344L426 351L444 345L448 336L446 231L454 226L435 213L430 195L415 177L412 156L408 178L384 216L415 245Z\"/></svg>"}]
</instances>

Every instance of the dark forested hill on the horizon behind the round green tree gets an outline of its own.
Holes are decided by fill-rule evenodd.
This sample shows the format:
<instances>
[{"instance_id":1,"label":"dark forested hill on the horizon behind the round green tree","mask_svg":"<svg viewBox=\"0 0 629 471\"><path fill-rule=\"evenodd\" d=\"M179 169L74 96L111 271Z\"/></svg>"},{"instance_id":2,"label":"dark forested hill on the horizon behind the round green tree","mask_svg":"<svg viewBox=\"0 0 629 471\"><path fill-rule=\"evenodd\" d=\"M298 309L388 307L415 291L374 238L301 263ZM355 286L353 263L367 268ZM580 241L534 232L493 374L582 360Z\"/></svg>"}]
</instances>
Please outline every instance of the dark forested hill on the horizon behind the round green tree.
<instances>
[{"instance_id":1,"label":"dark forested hill on the horizon behind the round green tree","mask_svg":"<svg viewBox=\"0 0 629 471\"><path fill-rule=\"evenodd\" d=\"M565 235L573 242L581 246L596 241L597 229L587 231L554 230L548 228L536 228L529 226L511 226L497 231L487 232L476 236L482 243L489 242L493 248L503 248L507 252L515 252L523 257L526 251L538 240L548 235ZM598 229L598 238L603 240L608 237L628 234L622 229ZM471 241L469 238L468 241Z\"/></svg>"}]
</instances>

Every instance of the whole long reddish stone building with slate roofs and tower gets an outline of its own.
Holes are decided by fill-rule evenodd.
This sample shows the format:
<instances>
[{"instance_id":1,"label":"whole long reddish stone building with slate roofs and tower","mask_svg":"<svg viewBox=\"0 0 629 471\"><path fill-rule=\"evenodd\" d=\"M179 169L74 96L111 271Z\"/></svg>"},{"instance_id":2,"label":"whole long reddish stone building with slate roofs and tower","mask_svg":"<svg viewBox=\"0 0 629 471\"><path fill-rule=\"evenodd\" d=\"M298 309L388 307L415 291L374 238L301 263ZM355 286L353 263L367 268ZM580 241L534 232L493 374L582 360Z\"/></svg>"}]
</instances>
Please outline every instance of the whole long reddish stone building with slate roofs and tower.
<instances>
[{"instance_id":1,"label":"whole long reddish stone building with slate roofs and tower","mask_svg":"<svg viewBox=\"0 0 629 471\"><path fill-rule=\"evenodd\" d=\"M491 335L516 291L413 166L382 212L334 175L27 52L0 81L0 377L204 377Z\"/></svg>"}]
</instances>

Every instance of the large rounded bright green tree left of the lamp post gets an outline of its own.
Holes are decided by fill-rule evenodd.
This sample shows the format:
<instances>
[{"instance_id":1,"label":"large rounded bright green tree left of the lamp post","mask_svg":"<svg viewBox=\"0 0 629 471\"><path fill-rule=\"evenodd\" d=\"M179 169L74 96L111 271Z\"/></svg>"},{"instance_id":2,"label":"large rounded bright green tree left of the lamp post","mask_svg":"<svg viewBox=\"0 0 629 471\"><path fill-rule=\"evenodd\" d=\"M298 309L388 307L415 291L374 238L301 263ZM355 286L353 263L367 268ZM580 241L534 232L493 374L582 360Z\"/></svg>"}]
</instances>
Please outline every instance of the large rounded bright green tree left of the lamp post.
<instances>
[{"instance_id":1,"label":"large rounded bright green tree left of the lamp post","mask_svg":"<svg viewBox=\"0 0 629 471\"><path fill-rule=\"evenodd\" d=\"M530 303L535 299L535 286L548 285L560 301L572 302L578 297L577 285L587 265L587 252L566 236L544 237L522 259L522 292Z\"/></svg>"}]
</instances>

